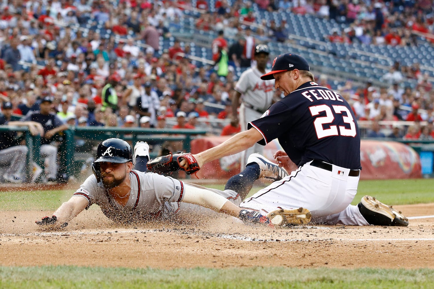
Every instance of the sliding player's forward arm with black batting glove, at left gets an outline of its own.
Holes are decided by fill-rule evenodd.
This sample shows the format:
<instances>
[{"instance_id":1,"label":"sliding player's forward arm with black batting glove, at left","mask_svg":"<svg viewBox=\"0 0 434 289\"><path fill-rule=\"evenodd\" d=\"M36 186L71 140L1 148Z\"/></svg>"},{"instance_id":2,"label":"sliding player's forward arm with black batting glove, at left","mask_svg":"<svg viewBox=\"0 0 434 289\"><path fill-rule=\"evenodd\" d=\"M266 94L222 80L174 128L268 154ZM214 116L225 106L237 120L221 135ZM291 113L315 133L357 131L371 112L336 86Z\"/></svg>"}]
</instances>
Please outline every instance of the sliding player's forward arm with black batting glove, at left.
<instances>
[{"instance_id":1,"label":"sliding player's forward arm with black batting glove, at left","mask_svg":"<svg viewBox=\"0 0 434 289\"><path fill-rule=\"evenodd\" d=\"M66 227L72 218L76 217L89 205L89 201L81 196L72 196L69 201L64 202L50 217L44 217L36 221L39 226L47 226L50 229Z\"/></svg>"}]
</instances>

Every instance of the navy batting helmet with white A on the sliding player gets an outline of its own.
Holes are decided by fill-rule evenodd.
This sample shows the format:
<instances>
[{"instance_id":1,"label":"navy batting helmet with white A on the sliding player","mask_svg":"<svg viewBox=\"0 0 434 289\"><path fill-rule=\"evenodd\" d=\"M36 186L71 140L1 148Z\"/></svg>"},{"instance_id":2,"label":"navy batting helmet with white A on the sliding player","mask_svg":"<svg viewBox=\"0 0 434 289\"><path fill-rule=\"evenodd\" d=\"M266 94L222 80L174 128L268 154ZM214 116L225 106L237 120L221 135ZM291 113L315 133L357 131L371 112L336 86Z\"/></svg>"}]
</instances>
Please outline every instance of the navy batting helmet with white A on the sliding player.
<instances>
[{"instance_id":1,"label":"navy batting helmet with white A on the sliding player","mask_svg":"<svg viewBox=\"0 0 434 289\"><path fill-rule=\"evenodd\" d=\"M132 155L131 146L125 140L112 138L102 141L96 149L96 159L92 163L96 180L101 181L100 162L131 162Z\"/></svg>"}]
</instances>

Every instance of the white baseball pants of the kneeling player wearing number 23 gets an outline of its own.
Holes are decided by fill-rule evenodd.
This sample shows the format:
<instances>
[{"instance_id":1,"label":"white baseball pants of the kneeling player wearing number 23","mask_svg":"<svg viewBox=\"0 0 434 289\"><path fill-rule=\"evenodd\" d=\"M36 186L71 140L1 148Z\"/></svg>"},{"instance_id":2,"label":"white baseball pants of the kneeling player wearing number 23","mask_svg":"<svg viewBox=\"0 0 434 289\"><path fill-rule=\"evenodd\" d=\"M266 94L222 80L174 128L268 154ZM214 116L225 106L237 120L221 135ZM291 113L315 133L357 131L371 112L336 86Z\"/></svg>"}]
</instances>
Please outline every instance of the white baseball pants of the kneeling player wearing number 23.
<instances>
[{"instance_id":1,"label":"white baseball pants of the kneeling player wearing number 23","mask_svg":"<svg viewBox=\"0 0 434 289\"><path fill-rule=\"evenodd\" d=\"M310 166L310 162L280 181L244 200L241 208L267 214L277 208L307 208L313 223L368 225L357 206L350 205L359 176L349 176L349 169L332 166L332 171Z\"/></svg>"}]
</instances>

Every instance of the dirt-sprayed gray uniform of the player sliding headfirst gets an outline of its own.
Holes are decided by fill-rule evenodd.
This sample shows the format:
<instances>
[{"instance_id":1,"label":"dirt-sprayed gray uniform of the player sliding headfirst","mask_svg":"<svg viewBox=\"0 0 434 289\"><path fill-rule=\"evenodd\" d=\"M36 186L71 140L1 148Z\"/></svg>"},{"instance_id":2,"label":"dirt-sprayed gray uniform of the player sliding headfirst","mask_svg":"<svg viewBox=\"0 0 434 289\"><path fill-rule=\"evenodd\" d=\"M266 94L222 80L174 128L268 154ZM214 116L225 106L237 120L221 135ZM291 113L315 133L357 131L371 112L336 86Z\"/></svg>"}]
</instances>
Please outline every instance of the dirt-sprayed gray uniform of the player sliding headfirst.
<instances>
[{"instance_id":1,"label":"dirt-sprayed gray uniform of the player sliding headfirst","mask_svg":"<svg viewBox=\"0 0 434 289\"><path fill-rule=\"evenodd\" d=\"M94 175L89 176L74 195L82 196L89 201L89 205L99 205L102 212L112 220L149 220L153 218L168 218L178 213L181 206L184 190L188 186L198 185L184 183L171 177L158 175L152 172L140 172L133 170L129 174L131 180L131 192L125 207L119 205L103 187L97 183ZM208 188L204 188L208 189ZM208 189L228 200L240 204L240 196L232 191L219 191Z\"/></svg>"}]
</instances>

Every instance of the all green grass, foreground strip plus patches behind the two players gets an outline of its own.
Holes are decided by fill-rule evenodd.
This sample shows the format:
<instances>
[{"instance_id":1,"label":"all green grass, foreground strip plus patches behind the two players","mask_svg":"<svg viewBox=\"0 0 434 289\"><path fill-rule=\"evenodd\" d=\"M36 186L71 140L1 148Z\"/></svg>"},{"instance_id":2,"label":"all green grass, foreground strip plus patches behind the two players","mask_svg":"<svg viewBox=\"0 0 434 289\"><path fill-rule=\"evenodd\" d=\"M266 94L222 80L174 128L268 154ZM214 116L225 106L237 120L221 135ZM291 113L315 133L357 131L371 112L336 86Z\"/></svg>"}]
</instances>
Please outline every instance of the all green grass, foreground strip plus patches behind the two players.
<instances>
[{"instance_id":1,"label":"all green grass, foreground strip plus patches behind the two players","mask_svg":"<svg viewBox=\"0 0 434 289\"><path fill-rule=\"evenodd\" d=\"M361 181L353 201L372 195L391 205L434 202L430 179ZM208 185L223 189L224 185ZM250 194L260 187L254 187ZM0 210L55 210L74 190L0 193ZM434 288L434 270L128 269L76 266L0 267L0 288Z\"/></svg>"}]
</instances>

